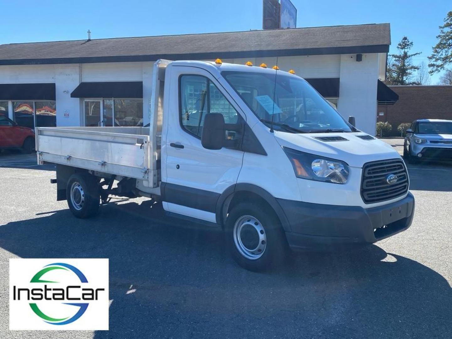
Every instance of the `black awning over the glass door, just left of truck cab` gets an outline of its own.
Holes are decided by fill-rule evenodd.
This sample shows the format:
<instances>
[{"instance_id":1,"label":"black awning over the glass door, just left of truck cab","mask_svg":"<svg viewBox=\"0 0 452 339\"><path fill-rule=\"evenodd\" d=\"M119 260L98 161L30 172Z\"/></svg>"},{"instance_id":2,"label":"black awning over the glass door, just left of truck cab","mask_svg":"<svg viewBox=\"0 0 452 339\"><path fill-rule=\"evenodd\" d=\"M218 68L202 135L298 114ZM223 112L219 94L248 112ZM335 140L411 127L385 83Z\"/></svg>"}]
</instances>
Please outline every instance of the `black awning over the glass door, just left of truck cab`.
<instances>
[{"instance_id":1,"label":"black awning over the glass door, just left of truck cab","mask_svg":"<svg viewBox=\"0 0 452 339\"><path fill-rule=\"evenodd\" d=\"M82 82L71 98L142 98L141 81Z\"/></svg>"}]
</instances>

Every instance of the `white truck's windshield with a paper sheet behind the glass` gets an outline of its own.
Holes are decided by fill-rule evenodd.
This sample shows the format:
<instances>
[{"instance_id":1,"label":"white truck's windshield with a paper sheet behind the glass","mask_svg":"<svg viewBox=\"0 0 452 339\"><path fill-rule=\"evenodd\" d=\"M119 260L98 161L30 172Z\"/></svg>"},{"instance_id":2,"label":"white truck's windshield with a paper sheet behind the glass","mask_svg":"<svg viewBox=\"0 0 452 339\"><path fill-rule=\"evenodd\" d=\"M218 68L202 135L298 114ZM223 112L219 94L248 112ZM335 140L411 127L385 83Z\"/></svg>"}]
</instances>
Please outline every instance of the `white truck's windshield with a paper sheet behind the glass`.
<instances>
[{"instance_id":1,"label":"white truck's windshield with a paper sheet behind the glass","mask_svg":"<svg viewBox=\"0 0 452 339\"><path fill-rule=\"evenodd\" d=\"M282 72L221 73L250 109L278 130L300 133L352 132L352 128L305 80ZM275 88L276 78L276 88Z\"/></svg>"}]
</instances>

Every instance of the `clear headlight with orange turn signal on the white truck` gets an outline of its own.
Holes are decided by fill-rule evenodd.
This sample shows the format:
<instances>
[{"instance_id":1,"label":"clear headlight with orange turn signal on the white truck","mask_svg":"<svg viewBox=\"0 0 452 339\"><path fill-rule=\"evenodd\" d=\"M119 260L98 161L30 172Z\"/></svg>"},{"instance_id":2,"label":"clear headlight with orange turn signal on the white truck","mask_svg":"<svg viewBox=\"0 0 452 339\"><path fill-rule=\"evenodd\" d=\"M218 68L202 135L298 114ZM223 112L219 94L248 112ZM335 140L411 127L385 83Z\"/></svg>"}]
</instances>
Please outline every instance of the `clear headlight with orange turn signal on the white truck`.
<instances>
[{"instance_id":1,"label":"clear headlight with orange turn signal on the white truck","mask_svg":"<svg viewBox=\"0 0 452 339\"><path fill-rule=\"evenodd\" d=\"M339 160L329 159L283 147L298 178L345 184L348 179L348 165Z\"/></svg>"}]
</instances>

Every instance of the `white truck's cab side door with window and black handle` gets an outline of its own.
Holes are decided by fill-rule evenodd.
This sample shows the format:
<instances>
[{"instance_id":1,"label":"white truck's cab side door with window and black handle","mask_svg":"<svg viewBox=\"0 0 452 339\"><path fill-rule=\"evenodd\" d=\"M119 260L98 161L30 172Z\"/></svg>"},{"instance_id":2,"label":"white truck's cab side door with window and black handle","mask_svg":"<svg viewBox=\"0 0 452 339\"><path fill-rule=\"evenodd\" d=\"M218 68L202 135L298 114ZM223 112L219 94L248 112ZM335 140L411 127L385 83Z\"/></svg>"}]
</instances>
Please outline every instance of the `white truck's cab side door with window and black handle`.
<instances>
[{"instance_id":1,"label":"white truck's cab side door with window and black handle","mask_svg":"<svg viewBox=\"0 0 452 339\"><path fill-rule=\"evenodd\" d=\"M216 222L217 200L237 182L242 166L242 133L225 131L225 138L235 140L238 147L208 150L201 144L203 121L208 113L221 113L226 125L240 130L243 113L217 80L198 67L171 67L169 97L179 100L165 103L169 117L162 144L163 206L170 212Z\"/></svg>"}]
</instances>

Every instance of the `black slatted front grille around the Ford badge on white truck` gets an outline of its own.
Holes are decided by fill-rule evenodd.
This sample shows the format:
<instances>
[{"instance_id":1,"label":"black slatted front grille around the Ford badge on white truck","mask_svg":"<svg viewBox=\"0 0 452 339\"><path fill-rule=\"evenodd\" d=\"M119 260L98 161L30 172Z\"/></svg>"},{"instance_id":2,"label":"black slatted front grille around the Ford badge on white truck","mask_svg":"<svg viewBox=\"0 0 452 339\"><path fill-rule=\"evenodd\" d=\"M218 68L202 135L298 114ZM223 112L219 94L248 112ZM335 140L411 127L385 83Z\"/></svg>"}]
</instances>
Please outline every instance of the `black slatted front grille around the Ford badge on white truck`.
<instances>
[{"instance_id":1,"label":"black slatted front grille around the Ford badge on white truck","mask_svg":"<svg viewBox=\"0 0 452 339\"><path fill-rule=\"evenodd\" d=\"M388 176L394 174L398 180L388 184ZM367 204L391 200L408 192L408 173L402 160L367 162L363 166L361 197Z\"/></svg>"}]
</instances>

